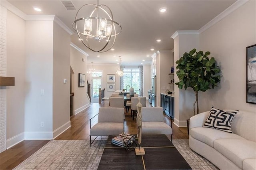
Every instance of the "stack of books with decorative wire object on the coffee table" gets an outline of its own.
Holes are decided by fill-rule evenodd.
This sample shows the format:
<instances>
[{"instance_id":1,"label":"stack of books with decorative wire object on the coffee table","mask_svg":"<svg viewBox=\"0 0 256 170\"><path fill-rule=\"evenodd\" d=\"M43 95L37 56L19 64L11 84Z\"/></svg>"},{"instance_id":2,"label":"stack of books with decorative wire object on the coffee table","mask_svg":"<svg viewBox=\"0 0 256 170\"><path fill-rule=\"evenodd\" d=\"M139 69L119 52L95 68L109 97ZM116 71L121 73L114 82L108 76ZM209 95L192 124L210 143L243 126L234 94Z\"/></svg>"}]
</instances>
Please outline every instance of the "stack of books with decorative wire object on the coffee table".
<instances>
[{"instance_id":1,"label":"stack of books with decorative wire object on the coffee table","mask_svg":"<svg viewBox=\"0 0 256 170\"><path fill-rule=\"evenodd\" d=\"M133 142L134 136L127 134L127 133L122 133L119 134L118 136L112 138L112 144L115 144L117 146L124 147L128 144L131 144Z\"/></svg>"}]
</instances>

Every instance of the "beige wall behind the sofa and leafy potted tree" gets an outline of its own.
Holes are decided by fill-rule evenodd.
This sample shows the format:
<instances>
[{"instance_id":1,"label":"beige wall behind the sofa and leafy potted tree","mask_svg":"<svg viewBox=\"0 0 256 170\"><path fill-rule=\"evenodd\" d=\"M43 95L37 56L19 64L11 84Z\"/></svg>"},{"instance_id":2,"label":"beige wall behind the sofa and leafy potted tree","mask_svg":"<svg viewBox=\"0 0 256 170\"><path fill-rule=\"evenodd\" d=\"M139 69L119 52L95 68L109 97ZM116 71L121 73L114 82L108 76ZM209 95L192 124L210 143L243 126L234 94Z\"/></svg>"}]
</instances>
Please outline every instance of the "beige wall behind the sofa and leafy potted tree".
<instances>
[{"instance_id":1,"label":"beige wall behind the sofa and leafy potted tree","mask_svg":"<svg viewBox=\"0 0 256 170\"><path fill-rule=\"evenodd\" d=\"M200 49L210 51L222 71L219 87L199 93L200 112L214 105L256 113L246 103L246 47L256 44L256 1L250 0L200 34Z\"/></svg>"}]
</instances>

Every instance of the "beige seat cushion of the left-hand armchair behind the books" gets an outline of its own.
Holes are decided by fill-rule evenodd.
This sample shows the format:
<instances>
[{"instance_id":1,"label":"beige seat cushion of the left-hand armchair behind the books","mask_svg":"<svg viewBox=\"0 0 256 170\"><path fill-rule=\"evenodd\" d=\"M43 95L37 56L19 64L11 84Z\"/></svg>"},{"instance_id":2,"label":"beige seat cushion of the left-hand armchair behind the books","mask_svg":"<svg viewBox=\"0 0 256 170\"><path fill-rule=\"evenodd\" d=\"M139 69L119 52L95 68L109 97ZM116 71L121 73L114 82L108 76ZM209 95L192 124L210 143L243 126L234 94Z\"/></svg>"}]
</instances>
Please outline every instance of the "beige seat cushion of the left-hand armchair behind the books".
<instances>
[{"instance_id":1,"label":"beige seat cushion of the left-hand armchair behind the books","mask_svg":"<svg viewBox=\"0 0 256 170\"><path fill-rule=\"evenodd\" d=\"M103 128L104 127L104 128ZM111 134L120 134L124 131L123 123L100 122L90 129L91 136L108 136Z\"/></svg>"}]
</instances>

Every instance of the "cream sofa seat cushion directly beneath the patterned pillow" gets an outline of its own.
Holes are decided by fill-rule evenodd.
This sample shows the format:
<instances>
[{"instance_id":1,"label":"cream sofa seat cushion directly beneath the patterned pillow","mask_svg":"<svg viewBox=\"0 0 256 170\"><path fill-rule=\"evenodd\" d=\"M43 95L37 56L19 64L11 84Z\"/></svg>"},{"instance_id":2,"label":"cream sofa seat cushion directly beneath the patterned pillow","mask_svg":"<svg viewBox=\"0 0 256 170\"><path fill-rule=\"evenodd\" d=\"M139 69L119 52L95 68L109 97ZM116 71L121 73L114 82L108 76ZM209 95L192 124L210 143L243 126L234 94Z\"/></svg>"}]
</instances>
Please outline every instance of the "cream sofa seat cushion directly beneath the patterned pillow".
<instances>
[{"instance_id":1,"label":"cream sofa seat cushion directly beneath the patterned pillow","mask_svg":"<svg viewBox=\"0 0 256 170\"><path fill-rule=\"evenodd\" d=\"M241 136L238 136L237 134L234 133L228 133L214 128L203 127L191 128L190 135L193 138L200 140L201 142L204 142L211 147L213 147L214 140L216 139L244 139Z\"/></svg>"}]
</instances>

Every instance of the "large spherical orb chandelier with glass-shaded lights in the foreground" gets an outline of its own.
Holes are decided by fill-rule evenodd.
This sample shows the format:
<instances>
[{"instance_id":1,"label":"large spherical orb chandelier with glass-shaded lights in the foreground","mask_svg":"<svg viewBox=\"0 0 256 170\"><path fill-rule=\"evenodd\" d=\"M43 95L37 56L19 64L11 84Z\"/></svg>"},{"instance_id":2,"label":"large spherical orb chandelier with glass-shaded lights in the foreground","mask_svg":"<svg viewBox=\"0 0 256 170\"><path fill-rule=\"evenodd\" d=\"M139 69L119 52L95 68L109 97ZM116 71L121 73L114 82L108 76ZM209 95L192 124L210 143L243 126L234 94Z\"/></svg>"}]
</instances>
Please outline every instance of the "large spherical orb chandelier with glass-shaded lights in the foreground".
<instances>
[{"instance_id":1,"label":"large spherical orb chandelier with glass-shaded lights in the foreground","mask_svg":"<svg viewBox=\"0 0 256 170\"><path fill-rule=\"evenodd\" d=\"M122 27L113 20L110 8L103 4L99 5L99 0L97 2L97 5L81 6L76 13L72 27L81 42L90 50L106 52L113 47L116 36L120 34Z\"/></svg>"}]
</instances>

